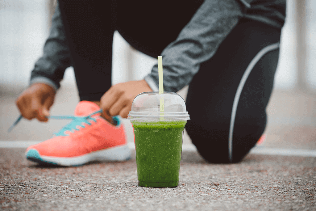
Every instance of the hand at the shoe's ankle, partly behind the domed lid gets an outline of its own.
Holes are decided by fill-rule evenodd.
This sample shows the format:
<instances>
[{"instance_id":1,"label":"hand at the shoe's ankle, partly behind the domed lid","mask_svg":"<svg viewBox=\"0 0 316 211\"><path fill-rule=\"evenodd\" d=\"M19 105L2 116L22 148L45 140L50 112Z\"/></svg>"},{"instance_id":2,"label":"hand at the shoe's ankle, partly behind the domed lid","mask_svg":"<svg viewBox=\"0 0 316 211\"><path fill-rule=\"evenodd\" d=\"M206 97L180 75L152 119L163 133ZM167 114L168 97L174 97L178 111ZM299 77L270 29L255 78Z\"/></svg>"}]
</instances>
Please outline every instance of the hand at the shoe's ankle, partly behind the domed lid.
<instances>
[{"instance_id":1,"label":"hand at the shoe's ankle, partly behind the domed lid","mask_svg":"<svg viewBox=\"0 0 316 211\"><path fill-rule=\"evenodd\" d=\"M126 118L134 98L142 93L153 91L145 80L129 81L111 86L101 97L100 104L104 116L120 115Z\"/></svg>"}]
</instances>

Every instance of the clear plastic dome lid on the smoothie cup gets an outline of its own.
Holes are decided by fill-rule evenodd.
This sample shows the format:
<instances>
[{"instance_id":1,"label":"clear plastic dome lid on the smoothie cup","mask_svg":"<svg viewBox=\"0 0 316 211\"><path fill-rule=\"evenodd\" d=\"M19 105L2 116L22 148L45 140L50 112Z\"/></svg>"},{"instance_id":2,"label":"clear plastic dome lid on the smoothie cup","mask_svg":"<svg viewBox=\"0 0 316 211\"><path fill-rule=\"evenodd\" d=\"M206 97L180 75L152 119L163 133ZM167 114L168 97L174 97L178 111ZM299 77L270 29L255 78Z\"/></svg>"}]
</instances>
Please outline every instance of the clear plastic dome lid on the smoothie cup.
<instances>
[{"instance_id":1,"label":"clear plastic dome lid on the smoothie cup","mask_svg":"<svg viewBox=\"0 0 316 211\"><path fill-rule=\"evenodd\" d=\"M160 112L160 99L164 101L164 112ZM135 97L128 119L138 121L189 120L183 98L175 92L143 92Z\"/></svg>"}]
</instances>

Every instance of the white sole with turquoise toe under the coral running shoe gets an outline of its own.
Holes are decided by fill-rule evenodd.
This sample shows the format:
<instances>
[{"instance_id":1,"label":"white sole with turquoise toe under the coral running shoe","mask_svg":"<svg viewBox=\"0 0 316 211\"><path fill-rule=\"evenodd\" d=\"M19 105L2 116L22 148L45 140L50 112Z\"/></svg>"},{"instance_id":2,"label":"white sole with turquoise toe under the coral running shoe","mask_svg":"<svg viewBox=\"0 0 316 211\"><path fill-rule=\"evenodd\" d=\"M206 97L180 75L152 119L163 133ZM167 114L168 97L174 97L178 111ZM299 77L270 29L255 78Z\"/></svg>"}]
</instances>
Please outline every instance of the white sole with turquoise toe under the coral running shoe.
<instances>
[{"instance_id":1,"label":"white sole with turquoise toe under the coral running shoe","mask_svg":"<svg viewBox=\"0 0 316 211\"><path fill-rule=\"evenodd\" d=\"M25 156L40 164L78 166L92 161L126 161L131 158L131 149L126 144L70 158L43 156L37 150L29 149Z\"/></svg>"}]
</instances>

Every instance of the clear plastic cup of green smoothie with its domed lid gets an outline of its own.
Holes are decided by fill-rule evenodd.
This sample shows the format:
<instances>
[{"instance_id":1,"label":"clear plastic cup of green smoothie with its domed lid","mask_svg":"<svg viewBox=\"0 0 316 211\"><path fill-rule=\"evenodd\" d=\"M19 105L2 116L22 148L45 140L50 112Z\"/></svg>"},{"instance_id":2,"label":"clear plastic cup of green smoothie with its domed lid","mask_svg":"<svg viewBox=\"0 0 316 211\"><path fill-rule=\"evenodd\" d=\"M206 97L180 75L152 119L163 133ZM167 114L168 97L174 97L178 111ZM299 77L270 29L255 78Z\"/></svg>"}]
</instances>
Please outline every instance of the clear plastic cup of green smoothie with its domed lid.
<instances>
[{"instance_id":1,"label":"clear plastic cup of green smoothie with its domed lid","mask_svg":"<svg viewBox=\"0 0 316 211\"><path fill-rule=\"evenodd\" d=\"M138 185L178 186L183 131L190 119L183 98L174 92L143 92L135 97L128 119L134 129Z\"/></svg>"}]
</instances>

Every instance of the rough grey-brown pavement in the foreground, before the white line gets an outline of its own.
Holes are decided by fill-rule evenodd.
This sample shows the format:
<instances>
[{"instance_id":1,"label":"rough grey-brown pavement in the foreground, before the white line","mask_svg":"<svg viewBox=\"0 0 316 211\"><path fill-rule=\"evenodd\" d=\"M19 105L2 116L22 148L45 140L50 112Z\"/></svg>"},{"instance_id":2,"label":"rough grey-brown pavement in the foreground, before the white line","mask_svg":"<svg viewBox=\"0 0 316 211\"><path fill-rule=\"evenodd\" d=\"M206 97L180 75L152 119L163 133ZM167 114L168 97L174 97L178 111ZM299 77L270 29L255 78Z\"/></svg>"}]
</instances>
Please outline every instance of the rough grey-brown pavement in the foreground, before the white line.
<instances>
[{"instance_id":1,"label":"rough grey-brown pavement in the foreground, before the white line","mask_svg":"<svg viewBox=\"0 0 316 211\"><path fill-rule=\"evenodd\" d=\"M183 152L176 188L137 186L136 161L41 166L0 149L0 210L316 210L316 158Z\"/></svg>"}]
</instances>

